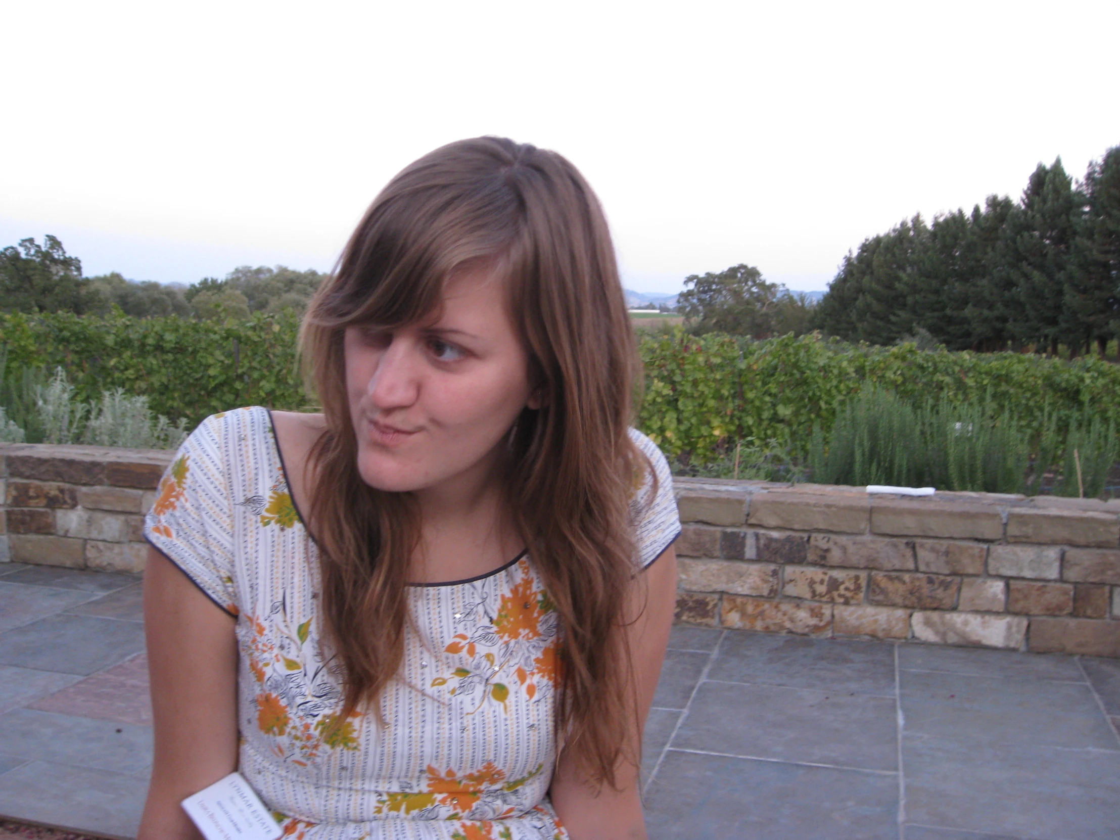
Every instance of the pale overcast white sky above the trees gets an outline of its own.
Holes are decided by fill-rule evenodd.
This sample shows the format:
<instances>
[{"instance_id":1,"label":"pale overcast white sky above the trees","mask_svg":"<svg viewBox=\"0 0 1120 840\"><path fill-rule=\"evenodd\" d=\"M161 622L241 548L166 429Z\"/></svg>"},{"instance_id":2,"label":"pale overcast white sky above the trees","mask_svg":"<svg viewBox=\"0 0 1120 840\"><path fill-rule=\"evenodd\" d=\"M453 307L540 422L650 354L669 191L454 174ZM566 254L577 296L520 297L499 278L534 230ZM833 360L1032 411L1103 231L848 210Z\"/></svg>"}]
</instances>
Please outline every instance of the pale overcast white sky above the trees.
<instances>
[{"instance_id":1,"label":"pale overcast white sky above the trees","mask_svg":"<svg viewBox=\"0 0 1120 840\"><path fill-rule=\"evenodd\" d=\"M447 141L556 149L623 277L823 289L902 218L1120 143L1120 2L4 3L0 245L86 274L327 270Z\"/></svg>"}]
</instances>

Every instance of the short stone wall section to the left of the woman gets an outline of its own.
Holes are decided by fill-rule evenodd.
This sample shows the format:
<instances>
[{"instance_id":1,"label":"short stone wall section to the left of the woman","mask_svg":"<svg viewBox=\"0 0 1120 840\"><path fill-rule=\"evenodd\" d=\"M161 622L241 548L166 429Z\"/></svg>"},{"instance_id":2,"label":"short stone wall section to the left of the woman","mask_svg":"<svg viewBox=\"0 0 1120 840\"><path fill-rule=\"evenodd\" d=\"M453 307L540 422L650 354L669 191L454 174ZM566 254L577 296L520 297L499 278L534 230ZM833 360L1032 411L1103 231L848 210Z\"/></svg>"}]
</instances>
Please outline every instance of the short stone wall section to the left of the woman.
<instances>
[{"instance_id":1,"label":"short stone wall section to the left of the woman","mask_svg":"<svg viewBox=\"0 0 1120 840\"><path fill-rule=\"evenodd\" d=\"M143 514L171 455L0 445L0 561L142 571Z\"/></svg>"}]
</instances>

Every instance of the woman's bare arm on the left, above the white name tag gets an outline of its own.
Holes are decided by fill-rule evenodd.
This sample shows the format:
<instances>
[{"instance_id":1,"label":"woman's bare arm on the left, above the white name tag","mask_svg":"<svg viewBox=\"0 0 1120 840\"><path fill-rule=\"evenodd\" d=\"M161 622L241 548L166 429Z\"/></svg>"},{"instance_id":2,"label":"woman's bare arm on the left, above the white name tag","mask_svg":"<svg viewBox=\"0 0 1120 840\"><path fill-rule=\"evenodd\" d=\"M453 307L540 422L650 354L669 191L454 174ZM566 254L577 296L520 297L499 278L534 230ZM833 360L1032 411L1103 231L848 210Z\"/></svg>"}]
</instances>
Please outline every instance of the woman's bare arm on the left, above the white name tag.
<instances>
[{"instance_id":1,"label":"woman's bare arm on the left, above the white name tag","mask_svg":"<svg viewBox=\"0 0 1120 840\"><path fill-rule=\"evenodd\" d=\"M156 756L138 840L195 840L179 803L237 768L236 619L153 548L143 614Z\"/></svg>"}]
</instances>

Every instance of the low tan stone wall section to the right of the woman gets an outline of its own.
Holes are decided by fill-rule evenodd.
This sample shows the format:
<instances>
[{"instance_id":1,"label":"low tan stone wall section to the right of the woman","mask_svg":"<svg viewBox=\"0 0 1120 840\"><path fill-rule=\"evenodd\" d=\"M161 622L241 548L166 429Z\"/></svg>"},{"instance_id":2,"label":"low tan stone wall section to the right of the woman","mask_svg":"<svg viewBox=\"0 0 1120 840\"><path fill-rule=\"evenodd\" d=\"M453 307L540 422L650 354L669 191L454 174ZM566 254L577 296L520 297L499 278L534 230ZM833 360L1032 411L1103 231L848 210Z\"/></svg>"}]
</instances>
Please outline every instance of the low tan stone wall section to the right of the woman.
<instances>
[{"instance_id":1,"label":"low tan stone wall section to the right of the woman","mask_svg":"<svg viewBox=\"0 0 1120 840\"><path fill-rule=\"evenodd\" d=\"M675 484L679 620L1120 656L1120 502Z\"/></svg>"}]
</instances>

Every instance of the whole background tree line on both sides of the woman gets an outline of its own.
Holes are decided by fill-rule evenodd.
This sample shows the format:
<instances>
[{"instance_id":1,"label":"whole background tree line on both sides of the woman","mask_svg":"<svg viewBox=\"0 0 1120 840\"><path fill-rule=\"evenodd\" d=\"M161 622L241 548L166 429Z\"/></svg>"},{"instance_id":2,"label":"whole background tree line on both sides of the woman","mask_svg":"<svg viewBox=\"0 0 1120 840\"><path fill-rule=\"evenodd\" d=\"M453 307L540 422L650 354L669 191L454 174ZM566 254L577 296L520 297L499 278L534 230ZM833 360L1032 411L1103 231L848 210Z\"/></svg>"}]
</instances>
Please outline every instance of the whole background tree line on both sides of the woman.
<instances>
[{"instance_id":1,"label":"whole background tree line on both sides of the woman","mask_svg":"<svg viewBox=\"0 0 1120 840\"><path fill-rule=\"evenodd\" d=\"M0 310L248 318L302 314L318 271L248 265L189 287L85 278L47 236L0 250ZM917 340L950 349L1033 349L1103 356L1120 334L1120 146L1074 183L1058 158L1039 164L1019 200L989 196L926 223L905 220L849 252L814 305L752 265L692 274L676 310L696 335L767 338L819 329L850 342Z\"/></svg>"}]
</instances>

